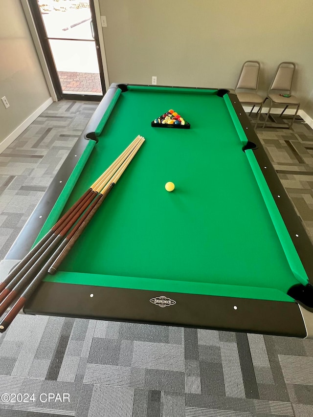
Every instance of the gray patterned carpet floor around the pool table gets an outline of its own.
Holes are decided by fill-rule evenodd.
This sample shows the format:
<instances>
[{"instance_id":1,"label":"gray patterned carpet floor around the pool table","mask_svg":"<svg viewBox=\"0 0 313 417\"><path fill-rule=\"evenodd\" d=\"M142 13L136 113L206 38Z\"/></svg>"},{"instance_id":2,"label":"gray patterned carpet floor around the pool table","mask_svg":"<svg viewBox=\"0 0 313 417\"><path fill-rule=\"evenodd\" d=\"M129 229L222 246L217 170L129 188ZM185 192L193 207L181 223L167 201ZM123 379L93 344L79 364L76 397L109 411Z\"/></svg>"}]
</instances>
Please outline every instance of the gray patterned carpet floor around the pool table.
<instances>
[{"instance_id":1,"label":"gray patterned carpet floor around the pool table","mask_svg":"<svg viewBox=\"0 0 313 417\"><path fill-rule=\"evenodd\" d=\"M53 103L0 154L0 259L95 108ZM257 133L313 238L313 131ZM313 341L19 314L0 336L11 416L311 417Z\"/></svg>"}]
</instances>

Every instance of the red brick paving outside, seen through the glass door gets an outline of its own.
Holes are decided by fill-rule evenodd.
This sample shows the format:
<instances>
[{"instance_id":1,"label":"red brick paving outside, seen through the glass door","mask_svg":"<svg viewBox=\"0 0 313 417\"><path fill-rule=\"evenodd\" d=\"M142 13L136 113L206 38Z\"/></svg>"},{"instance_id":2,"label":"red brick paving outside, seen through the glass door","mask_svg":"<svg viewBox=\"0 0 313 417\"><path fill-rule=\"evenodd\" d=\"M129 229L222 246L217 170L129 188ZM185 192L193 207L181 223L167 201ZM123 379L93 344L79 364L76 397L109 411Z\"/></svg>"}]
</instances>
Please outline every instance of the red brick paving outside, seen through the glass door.
<instances>
[{"instance_id":1,"label":"red brick paving outside, seen through the glass door","mask_svg":"<svg viewBox=\"0 0 313 417\"><path fill-rule=\"evenodd\" d=\"M91 72L58 71L64 92L102 94L100 75Z\"/></svg>"}]
</instances>

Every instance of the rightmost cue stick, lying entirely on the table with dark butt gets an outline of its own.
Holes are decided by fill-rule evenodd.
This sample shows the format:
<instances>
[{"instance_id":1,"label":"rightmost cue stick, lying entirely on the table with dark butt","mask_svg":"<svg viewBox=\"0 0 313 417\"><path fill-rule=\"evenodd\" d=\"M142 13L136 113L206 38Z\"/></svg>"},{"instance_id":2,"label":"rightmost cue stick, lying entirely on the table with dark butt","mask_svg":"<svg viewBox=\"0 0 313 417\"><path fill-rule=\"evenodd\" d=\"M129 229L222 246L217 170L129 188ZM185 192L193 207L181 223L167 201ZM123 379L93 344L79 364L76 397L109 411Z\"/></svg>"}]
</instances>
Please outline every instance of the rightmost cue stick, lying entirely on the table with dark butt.
<instances>
[{"instance_id":1,"label":"rightmost cue stick, lying entirely on the table with dark butt","mask_svg":"<svg viewBox=\"0 0 313 417\"><path fill-rule=\"evenodd\" d=\"M70 251L70 249L73 247L74 243L77 241L77 239L80 237L80 235L83 233L85 227L89 223L89 221L94 216L95 212L98 210L104 199L107 197L107 191L113 188L113 186L116 184L116 182L119 180L120 176L123 174L131 160L134 158L134 155L137 153L139 148L144 142L144 138L141 142L138 143L137 148L134 148L134 154L130 154L129 159L125 160L124 164L121 165L120 169L116 172L116 174L112 177L112 179L109 181L107 186L104 188L103 192L100 193L100 197L94 200L92 205L90 205L89 209L86 211L84 216L79 219L77 224L74 226L74 228L71 230L71 232L67 235L65 238L65 241L67 241L67 245L65 249L62 251L58 259L50 266L48 273L51 275L54 275L57 271L57 268L59 267L60 263L64 260L64 258L67 256L67 253ZM101 194L103 194L101 196ZM104 197L105 196L105 197Z\"/></svg>"}]
</instances>

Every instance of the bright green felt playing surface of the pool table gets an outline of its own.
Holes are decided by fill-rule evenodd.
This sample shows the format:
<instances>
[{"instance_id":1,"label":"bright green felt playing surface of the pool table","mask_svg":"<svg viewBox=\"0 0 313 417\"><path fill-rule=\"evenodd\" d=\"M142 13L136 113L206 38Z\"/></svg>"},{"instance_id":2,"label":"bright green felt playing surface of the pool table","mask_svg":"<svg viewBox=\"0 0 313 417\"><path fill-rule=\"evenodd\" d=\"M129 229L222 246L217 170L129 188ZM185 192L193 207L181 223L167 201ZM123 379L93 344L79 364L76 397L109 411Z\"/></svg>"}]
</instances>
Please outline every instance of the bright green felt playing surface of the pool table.
<instances>
[{"instance_id":1,"label":"bright green felt playing surface of the pool table","mask_svg":"<svg viewBox=\"0 0 313 417\"><path fill-rule=\"evenodd\" d=\"M133 87L116 99L65 210L138 134L146 141L60 271L46 280L291 301L284 291L299 283L290 266L299 260L292 248L286 257L228 97ZM191 129L152 128L167 107L185 115ZM299 274L305 281L301 267Z\"/></svg>"}]
</instances>

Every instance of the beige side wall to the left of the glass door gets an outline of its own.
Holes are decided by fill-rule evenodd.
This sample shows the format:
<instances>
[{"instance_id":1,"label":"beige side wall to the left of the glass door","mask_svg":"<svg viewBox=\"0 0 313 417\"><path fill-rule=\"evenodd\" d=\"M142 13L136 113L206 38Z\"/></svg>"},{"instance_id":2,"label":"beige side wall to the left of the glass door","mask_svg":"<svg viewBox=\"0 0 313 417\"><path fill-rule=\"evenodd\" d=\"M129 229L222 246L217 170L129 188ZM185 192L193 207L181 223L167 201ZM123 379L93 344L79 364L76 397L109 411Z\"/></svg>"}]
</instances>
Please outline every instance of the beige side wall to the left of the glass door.
<instances>
[{"instance_id":1,"label":"beige side wall to the left of the glass door","mask_svg":"<svg viewBox=\"0 0 313 417\"><path fill-rule=\"evenodd\" d=\"M23 122L45 107L50 93L20 1L0 0L0 16L0 97L10 104L5 109L0 102L1 151L4 141L7 146Z\"/></svg>"}]
</instances>

